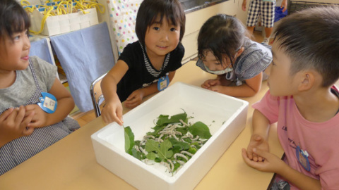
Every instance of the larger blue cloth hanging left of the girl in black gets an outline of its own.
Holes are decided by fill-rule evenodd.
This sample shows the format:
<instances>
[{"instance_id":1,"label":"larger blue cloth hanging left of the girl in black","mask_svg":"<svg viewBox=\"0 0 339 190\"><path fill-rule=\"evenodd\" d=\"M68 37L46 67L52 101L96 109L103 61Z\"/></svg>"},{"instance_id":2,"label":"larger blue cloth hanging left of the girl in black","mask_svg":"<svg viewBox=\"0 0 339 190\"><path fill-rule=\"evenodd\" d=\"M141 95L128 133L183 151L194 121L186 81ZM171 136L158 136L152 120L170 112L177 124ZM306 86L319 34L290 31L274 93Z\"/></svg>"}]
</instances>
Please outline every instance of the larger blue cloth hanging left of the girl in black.
<instances>
[{"instance_id":1,"label":"larger blue cloth hanging left of the girl in black","mask_svg":"<svg viewBox=\"0 0 339 190\"><path fill-rule=\"evenodd\" d=\"M50 38L76 106L92 110L90 84L115 64L107 23Z\"/></svg>"}]
</instances>

